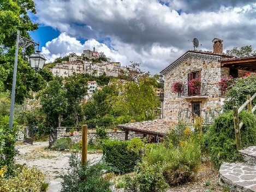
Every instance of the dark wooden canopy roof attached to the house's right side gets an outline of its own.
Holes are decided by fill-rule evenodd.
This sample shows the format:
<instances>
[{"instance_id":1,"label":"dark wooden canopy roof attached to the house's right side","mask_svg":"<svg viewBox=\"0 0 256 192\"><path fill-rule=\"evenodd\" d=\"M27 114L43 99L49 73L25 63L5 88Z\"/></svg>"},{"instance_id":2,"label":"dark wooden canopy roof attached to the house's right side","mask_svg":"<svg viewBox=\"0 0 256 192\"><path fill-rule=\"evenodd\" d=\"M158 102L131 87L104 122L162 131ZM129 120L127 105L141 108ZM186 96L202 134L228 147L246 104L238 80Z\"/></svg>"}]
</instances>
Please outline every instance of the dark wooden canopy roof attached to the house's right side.
<instances>
[{"instance_id":1,"label":"dark wooden canopy roof attached to the house's right side","mask_svg":"<svg viewBox=\"0 0 256 192\"><path fill-rule=\"evenodd\" d=\"M220 61L222 67L241 69L246 71L256 71L256 56L223 59Z\"/></svg>"}]
</instances>

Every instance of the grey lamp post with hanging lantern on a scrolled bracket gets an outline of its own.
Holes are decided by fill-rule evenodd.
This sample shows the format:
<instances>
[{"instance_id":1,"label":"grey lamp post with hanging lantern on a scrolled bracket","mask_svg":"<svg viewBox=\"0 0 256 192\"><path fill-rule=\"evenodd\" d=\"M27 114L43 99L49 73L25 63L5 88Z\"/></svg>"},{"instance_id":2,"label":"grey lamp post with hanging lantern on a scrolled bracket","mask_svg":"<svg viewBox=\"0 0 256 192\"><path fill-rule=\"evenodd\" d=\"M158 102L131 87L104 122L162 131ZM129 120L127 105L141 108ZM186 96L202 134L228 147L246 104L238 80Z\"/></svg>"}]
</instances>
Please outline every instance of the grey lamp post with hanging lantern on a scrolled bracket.
<instances>
[{"instance_id":1,"label":"grey lamp post with hanging lantern on a scrolled bracket","mask_svg":"<svg viewBox=\"0 0 256 192\"><path fill-rule=\"evenodd\" d=\"M14 59L14 69L13 69L13 85L11 88L11 107L10 107L10 118L9 118L9 129L13 128L13 116L14 116L14 101L15 101L15 87L16 87L16 76L17 76L17 63L18 63L18 53L19 46L26 48L29 45L38 46L39 44L35 43L32 40L29 40L25 37L20 36L20 31L17 31L16 37L16 47L15 47L15 59ZM39 53L34 53L29 57L29 61L31 63L31 67L35 70L43 68L45 57Z\"/></svg>"}]
</instances>

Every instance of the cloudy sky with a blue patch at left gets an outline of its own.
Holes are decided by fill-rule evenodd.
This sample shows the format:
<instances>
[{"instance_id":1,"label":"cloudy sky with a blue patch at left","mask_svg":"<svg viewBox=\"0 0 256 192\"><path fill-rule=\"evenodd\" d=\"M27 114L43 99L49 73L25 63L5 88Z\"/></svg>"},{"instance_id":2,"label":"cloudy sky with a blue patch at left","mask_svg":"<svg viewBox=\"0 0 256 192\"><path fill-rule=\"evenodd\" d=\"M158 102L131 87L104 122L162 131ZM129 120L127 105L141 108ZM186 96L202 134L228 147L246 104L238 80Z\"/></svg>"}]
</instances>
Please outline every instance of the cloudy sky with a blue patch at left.
<instances>
[{"instance_id":1,"label":"cloudy sky with a blue patch at left","mask_svg":"<svg viewBox=\"0 0 256 192\"><path fill-rule=\"evenodd\" d=\"M240 0L34 0L31 15L48 62L71 52L104 52L113 62L141 63L157 74L188 50L252 45L256 49L256 1Z\"/></svg>"}]
</instances>

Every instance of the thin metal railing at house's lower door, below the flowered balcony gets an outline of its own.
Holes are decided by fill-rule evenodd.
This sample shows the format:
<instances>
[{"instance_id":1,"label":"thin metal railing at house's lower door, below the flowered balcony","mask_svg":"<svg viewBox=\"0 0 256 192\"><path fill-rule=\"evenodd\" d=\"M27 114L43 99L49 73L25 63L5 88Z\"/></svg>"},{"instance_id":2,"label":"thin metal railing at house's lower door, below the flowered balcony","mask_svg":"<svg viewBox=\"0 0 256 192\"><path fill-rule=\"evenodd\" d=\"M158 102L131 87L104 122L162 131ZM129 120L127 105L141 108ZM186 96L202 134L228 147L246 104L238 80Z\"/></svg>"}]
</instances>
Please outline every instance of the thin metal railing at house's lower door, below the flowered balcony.
<instances>
[{"instance_id":1,"label":"thin metal railing at house's lower door, below the flowered balcony","mask_svg":"<svg viewBox=\"0 0 256 192\"><path fill-rule=\"evenodd\" d=\"M221 113L220 110L212 109L209 111L206 110L198 110L198 111L190 111L189 109L184 109L178 112L178 121L184 121L188 124L195 123L195 117L201 116L203 118L204 124L213 123L213 119L219 116Z\"/></svg>"}]
</instances>

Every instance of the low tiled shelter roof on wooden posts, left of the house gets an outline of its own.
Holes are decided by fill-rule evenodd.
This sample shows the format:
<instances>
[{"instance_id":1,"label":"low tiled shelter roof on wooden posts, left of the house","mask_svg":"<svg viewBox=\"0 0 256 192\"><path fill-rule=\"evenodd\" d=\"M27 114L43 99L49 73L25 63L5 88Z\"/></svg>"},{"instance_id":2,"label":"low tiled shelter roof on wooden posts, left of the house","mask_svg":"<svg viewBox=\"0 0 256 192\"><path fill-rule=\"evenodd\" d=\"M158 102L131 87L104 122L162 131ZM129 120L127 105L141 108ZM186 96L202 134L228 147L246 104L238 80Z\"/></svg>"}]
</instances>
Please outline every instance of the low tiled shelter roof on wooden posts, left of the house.
<instances>
[{"instance_id":1,"label":"low tiled shelter roof on wooden posts, left of the house","mask_svg":"<svg viewBox=\"0 0 256 192\"><path fill-rule=\"evenodd\" d=\"M172 125L174 125L174 123L167 119L156 119L152 121L120 124L117 125L117 127L126 132L125 140L128 140L129 131L134 131L136 134L142 134L144 137L146 137L146 135L153 136L156 141L156 137L164 137L164 135L169 132Z\"/></svg>"}]
</instances>

